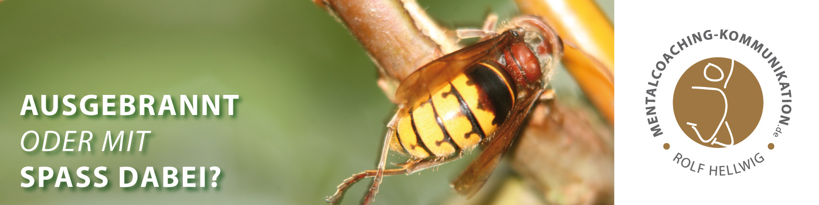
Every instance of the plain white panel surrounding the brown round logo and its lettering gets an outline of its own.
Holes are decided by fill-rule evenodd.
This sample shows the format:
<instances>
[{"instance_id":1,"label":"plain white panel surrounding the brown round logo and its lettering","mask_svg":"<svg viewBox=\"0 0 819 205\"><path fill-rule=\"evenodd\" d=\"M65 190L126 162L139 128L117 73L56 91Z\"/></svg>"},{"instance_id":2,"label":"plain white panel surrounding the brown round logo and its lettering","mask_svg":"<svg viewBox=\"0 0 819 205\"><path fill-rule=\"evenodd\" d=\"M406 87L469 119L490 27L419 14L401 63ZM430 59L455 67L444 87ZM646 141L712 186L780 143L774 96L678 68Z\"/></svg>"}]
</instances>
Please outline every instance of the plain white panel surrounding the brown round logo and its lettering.
<instances>
[{"instance_id":1,"label":"plain white panel surrounding the brown round logo and its lettering","mask_svg":"<svg viewBox=\"0 0 819 205\"><path fill-rule=\"evenodd\" d=\"M819 11L810 1L618 1L615 3L615 200L618 204L799 203L817 204L816 119ZM776 76L758 53L715 38L694 44L668 64L660 79L657 110L663 135L654 138L645 116L645 89L654 64L677 41L696 32L736 30L771 48L794 93L785 133L774 138L781 106ZM752 40L753 42L753 40ZM722 51L717 51L717 48ZM722 54L718 54L722 53ZM671 53L669 53L671 54ZM749 67L765 98L762 120L736 147L705 148L688 139L672 113L673 86L690 65L729 57ZM759 66L761 65L761 67ZM757 66L757 67L753 67ZM663 144L671 144L668 150ZM768 143L776 148L768 150ZM676 153L707 165L731 165L755 153L765 161L737 175L693 173L672 161ZM708 158L722 156L722 160ZM699 162L697 162L699 163ZM708 171L708 167L705 167Z\"/></svg>"}]
</instances>

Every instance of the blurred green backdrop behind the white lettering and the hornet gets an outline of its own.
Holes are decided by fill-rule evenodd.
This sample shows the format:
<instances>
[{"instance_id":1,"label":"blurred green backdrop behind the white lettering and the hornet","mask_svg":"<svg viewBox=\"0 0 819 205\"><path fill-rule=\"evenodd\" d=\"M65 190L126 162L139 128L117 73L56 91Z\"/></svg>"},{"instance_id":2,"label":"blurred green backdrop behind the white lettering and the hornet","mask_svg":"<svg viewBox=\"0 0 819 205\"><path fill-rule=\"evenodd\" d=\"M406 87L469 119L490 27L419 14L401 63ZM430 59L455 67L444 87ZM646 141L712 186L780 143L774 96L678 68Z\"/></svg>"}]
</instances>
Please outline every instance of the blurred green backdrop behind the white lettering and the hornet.
<instances>
[{"instance_id":1,"label":"blurred green backdrop behind the white lettering and the hornet","mask_svg":"<svg viewBox=\"0 0 819 205\"><path fill-rule=\"evenodd\" d=\"M517 10L509 0L420 4L450 28ZM601 6L611 18L612 2ZM306 0L0 2L0 203L324 204L342 180L375 166L394 109L375 80L351 35ZM241 100L236 116L20 116L26 94L37 102L41 94L170 94L177 107L179 94ZM41 138L89 130L95 151L26 153L28 130ZM99 152L106 130L152 134L142 153ZM387 177L377 202L439 203L466 163ZM25 189L24 166L68 166L75 182L79 166L107 166L110 188ZM145 166L222 172L219 189L123 189L120 166L140 175ZM345 204L357 203L366 184Z\"/></svg>"}]
</instances>

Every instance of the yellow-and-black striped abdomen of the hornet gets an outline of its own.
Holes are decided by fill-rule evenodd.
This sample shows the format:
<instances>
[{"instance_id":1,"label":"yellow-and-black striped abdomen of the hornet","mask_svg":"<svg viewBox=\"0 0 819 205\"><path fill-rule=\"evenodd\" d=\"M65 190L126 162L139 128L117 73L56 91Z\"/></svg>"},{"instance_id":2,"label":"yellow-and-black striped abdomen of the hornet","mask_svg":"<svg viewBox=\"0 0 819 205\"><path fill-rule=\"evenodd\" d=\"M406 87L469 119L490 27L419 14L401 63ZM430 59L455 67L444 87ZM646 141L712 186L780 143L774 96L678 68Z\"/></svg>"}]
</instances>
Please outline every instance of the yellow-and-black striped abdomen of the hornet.
<instances>
[{"instance_id":1,"label":"yellow-and-black striped abdomen of the hornet","mask_svg":"<svg viewBox=\"0 0 819 205\"><path fill-rule=\"evenodd\" d=\"M391 149L418 158L446 157L491 137L514 105L514 81L495 63L477 63L397 113Z\"/></svg>"}]
</instances>

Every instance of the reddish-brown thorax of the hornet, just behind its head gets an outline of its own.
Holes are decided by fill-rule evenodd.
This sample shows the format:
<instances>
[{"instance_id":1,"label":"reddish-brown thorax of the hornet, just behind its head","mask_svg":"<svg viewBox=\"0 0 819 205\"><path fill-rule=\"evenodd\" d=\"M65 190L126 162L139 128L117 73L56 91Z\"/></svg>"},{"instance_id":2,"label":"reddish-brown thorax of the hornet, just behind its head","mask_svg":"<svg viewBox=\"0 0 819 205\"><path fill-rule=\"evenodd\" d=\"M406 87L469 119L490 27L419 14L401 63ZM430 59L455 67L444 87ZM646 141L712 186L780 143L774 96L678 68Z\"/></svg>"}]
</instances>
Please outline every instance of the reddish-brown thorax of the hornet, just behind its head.
<instances>
[{"instance_id":1,"label":"reddish-brown thorax of the hornet, just behind its head","mask_svg":"<svg viewBox=\"0 0 819 205\"><path fill-rule=\"evenodd\" d=\"M504 58L509 75L518 84L536 83L543 76L537 56L524 42L512 43L504 49Z\"/></svg>"}]
</instances>

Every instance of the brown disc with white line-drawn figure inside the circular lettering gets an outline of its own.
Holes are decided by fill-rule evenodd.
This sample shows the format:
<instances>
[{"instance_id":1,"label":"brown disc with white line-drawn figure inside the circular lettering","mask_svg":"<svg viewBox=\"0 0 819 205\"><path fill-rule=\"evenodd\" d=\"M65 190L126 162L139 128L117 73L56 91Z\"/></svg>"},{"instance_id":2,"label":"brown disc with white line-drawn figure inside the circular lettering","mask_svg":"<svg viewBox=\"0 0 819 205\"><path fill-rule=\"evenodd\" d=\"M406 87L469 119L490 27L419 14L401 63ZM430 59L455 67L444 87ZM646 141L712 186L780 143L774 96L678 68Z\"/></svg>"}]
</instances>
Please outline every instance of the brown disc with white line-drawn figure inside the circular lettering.
<instances>
[{"instance_id":1,"label":"brown disc with white line-drawn figure inside the circular lettering","mask_svg":"<svg viewBox=\"0 0 819 205\"><path fill-rule=\"evenodd\" d=\"M709 148L740 144L762 117L762 89L740 62L712 57L690 66L676 84L676 122L686 135Z\"/></svg>"}]
</instances>

